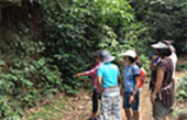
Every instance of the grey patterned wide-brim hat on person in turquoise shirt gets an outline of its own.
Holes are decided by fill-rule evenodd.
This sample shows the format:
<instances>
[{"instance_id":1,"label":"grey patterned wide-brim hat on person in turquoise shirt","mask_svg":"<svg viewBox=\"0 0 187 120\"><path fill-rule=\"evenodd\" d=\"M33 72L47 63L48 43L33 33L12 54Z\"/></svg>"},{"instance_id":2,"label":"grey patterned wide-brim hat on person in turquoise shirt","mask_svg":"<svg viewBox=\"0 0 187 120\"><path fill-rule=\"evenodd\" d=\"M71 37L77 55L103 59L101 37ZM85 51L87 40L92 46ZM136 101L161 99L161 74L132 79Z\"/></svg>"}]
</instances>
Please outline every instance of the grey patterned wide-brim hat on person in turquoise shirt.
<instances>
[{"instance_id":1,"label":"grey patterned wide-brim hat on person in turquoise shirt","mask_svg":"<svg viewBox=\"0 0 187 120\"><path fill-rule=\"evenodd\" d=\"M102 62L108 63L114 61L114 56L112 56L108 51L102 51Z\"/></svg>"}]
</instances>

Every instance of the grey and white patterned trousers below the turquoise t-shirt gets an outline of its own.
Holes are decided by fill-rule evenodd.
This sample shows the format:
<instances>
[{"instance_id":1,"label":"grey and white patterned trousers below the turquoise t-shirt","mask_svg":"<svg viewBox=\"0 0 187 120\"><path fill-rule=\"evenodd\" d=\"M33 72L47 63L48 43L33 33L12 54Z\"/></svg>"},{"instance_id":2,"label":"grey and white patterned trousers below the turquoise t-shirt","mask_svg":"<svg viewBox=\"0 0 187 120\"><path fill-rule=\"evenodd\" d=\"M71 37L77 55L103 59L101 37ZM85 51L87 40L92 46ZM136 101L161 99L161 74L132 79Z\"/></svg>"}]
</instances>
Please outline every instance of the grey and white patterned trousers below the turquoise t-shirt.
<instances>
[{"instance_id":1,"label":"grey and white patterned trousers below the turquoise t-shirt","mask_svg":"<svg viewBox=\"0 0 187 120\"><path fill-rule=\"evenodd\" d=\"M118 87L102 91L99 120L122 120L120 90Z\"/></svg>"}]
</instances>

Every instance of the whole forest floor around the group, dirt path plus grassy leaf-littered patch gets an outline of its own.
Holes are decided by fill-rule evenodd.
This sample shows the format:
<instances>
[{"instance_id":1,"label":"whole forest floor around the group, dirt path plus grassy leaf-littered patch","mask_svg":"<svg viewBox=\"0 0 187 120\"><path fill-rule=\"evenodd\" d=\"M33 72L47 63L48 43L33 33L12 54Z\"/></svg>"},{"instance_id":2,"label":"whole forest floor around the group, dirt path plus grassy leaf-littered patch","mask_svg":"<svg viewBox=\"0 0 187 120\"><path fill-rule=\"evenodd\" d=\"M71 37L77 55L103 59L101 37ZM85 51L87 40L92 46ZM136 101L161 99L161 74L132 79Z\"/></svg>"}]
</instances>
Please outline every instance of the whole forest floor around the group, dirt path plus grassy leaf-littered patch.
<instances>
[{"instance_id":1,"label":"whole forest floor around the group, dirt path plus grassy leaf-littered patch","mask_svg":"<svg viewBox=\"0 0 187 120\"><path fill-rule=\"evenodd\" d=\"M176 79L184 77L186 72L177 72ZM150 102L148 78L140 96L141 120L153 120L152 105ZM176 80L176 85L177 85ZM121 98L122 99L122 98ZM122 103L121 103L122 105ZM175 102L170 120L177 120L178 110L187 108L187 103ZM124 111L121 108L123 120ZM56 95L53 100L46 100L43 106L30 109L24 120L88 120L91 116L91 92L80 90L76 96Z\"/></svg>"}]
</instances>

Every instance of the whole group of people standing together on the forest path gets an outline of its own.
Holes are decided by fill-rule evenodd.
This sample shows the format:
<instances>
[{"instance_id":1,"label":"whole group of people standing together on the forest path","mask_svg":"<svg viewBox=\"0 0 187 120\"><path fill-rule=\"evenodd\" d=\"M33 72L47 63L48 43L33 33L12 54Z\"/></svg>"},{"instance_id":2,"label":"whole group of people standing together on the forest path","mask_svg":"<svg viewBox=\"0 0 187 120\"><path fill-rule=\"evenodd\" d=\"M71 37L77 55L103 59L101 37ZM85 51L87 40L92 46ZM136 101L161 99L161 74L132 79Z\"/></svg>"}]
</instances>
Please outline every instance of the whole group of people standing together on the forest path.
<instances>
[{"instance_id":1,"label":"whole group of people standing together on the forest path","mask_svg":"<svg viewBox=\"0 0 187 120\"><path fill-rule=\"evenodd\" d=\"M168 120L167 116L174 103L177 56L170 41L161 41L152 47L155 50L150 62L153 118ZM94 78L92 117L89 120L97 120L99 99L99 120L122 120L120 96L123 97L127 120L140 120L140 92L146 72L142 67L138 52L128 50L121 54L122 81L119 67L112 64L114 56L107 51L97 51L94 56L96 66L90 70L76 74L77 77L88 75Z\"/></svg>"}]
</instances>

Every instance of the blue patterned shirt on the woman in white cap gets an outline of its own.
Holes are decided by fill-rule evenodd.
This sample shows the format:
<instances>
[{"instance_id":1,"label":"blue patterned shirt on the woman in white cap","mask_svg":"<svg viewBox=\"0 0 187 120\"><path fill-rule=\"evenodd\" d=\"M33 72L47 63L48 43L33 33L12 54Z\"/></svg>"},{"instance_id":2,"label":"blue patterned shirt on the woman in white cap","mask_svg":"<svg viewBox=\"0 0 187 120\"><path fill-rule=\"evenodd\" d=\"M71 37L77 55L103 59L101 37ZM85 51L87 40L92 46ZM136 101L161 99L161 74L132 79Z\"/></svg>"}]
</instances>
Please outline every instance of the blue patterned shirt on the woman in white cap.
<instances>
[{"instance_id":1,"label":"blue patterned shirt on the woman in white cap","mask_svg":"<svg viewBox=\"0 0 187 120\"><path fill-rule=\"evenodd\" d=\"M140 69L135 64L125 65L123 68L123 84L125 92L133 92L135 88L135 77L140 75Z\"/></svg>"}]
</instances>

